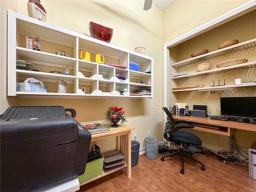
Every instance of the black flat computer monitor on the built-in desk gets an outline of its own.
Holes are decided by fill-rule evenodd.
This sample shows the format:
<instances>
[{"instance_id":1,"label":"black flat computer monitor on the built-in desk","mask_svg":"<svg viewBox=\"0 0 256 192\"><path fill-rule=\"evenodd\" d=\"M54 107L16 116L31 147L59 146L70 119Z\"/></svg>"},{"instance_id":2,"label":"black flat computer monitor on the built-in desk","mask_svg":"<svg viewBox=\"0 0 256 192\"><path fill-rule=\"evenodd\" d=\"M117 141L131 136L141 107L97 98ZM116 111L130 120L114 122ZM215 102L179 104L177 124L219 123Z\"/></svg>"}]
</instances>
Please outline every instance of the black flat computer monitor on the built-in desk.
<instances>
[{"instance_id":1,"label":"black flat computer monitor on the built-in desk","mask_svg":"<svg viewBox=\"0 0 256 192\"><path fill-rule=\"evenodd\" d=\"M221 97L221 115L256 119L256 97Z\"/></svg>"}]
</instances>

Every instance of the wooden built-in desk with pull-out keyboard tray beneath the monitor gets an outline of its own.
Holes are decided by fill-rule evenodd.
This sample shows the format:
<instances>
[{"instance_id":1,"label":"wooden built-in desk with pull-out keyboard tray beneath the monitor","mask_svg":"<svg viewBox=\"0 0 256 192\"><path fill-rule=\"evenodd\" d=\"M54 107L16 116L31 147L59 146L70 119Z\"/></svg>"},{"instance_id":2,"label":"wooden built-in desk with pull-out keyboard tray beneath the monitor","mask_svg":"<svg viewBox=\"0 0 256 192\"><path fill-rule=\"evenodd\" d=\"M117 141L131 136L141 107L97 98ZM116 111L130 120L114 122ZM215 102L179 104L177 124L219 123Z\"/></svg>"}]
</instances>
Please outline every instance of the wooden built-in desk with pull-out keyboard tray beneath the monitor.
<instances>
[{"instance_id":1,"label":"wooden built-in desk with pull-out keyboard tray beneath the monitor","mask_svg":"<svg viewBox=\"0 0 256 192\"><path fill-rule=\"evenodd\" d=\"M202 124L202 126L194 125L194 129L204 131L204 132L210 132L214 134L231 136L234 133L234 131L236 131L237 129L256 132L256 124L214 120L214 119L210 119L209 117L202 118L202 117L193 117L193 116L173 115L173 118L175 120L187 120L190 122ZM204 125L208 125L208 126L210 125L212 126L212 128L204 127ZM216 129L215 126L221 126L222 128Z\"/></svg>"}]
</instances>

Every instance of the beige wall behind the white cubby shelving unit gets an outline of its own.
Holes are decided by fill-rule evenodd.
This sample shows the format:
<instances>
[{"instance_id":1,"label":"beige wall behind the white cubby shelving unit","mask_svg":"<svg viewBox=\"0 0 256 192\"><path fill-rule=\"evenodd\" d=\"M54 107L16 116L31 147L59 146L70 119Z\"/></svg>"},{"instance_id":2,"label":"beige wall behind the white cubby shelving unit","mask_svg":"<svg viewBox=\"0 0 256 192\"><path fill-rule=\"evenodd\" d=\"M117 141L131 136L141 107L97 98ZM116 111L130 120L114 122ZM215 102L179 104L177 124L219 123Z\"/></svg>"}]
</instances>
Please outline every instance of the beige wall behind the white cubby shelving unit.
<instances>
[{"instance_id":1,"label":"beige wall behind the white cubby shelving unit","mask_svg":"<svg viewBox=\"0 0 256 192\"><path fill-rule=\"evenodd\" d=\"M111 44L134 50L136 46L145 46L146 55L154 58L154 98L143 99L31 99L6 96L6 10L20 14L27 13L28 0L1 0L1 113L8 106L45 106L61 105L76 110L75 119L80 123L101 122L106 124L105 113L108 108L124 108L128 120L126 124L134 126L140 145L148 130L152 136L162 140L162 11L152 6L143 10L144 1L71 1L41 0L47 12L46 22L81 34L88 34L90 21L114 29ZM106 140L98 144L102 151L112 150L108 145L114 142ZM106 146L106 147L105 147Z\"/></svg>"}]
</instances>

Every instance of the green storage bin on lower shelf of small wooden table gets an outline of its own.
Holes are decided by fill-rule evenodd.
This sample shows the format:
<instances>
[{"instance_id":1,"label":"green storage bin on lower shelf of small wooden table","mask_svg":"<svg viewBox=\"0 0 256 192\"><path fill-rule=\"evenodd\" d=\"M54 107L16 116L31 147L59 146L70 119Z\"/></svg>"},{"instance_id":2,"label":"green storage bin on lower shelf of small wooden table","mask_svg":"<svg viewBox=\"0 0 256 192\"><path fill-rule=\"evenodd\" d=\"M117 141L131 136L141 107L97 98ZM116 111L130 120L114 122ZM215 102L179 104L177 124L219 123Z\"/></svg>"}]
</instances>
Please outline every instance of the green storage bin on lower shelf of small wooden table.
<instances>
[{"instance_id":1,"label":"green storage bin on lower shelf of small wooden table","mask_svg":"<svg viewBox=\"0 0 256 192\"><path fill-rule=\"evenodd\" d=\"M102 174L104 156L100 154L100 159L86 163L84 174L78 176L79 183L82 184L88 180L98 177Z\"/></svg>"}]
</instances>

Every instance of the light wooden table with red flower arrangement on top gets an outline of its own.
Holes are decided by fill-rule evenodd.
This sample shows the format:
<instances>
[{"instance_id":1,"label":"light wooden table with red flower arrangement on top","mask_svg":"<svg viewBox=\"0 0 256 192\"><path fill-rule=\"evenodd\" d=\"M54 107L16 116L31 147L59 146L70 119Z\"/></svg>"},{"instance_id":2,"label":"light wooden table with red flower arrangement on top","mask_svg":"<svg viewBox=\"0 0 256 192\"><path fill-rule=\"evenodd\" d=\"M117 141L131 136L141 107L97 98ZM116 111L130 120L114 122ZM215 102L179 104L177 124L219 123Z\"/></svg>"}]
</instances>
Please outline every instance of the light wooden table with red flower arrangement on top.
<instances>
[{"instance_id":1,"label":"light wooden table with red flower arrangement on top","mask_svg":"<svg viewBox=\"0 0 256 192\"><path fill-rule=\"evenodd\" d=\"M119 124L119 127L112 128L111 125L112 124L107 125L110 127L108 129L108 132L93 134L91 142L116 137L116 150L120 150L120 152L125 156L124 160L125 160L125 165L126 165L126 176L127 176L127 178L131 178L132 177L131 130L134 130L135 128L128 126L128 125L124 125L124 124ZM103 176L106 176L107 174L110 174L115 171L117 171L117 169L114 171L108 172L108 173L105 173L103 171L100 176L93 178L91 180L88 180L88 181L80 184L80 186L84 185L86 183L89 183L93 180L96 180L98 178L101 178Z\"/></svg>"}]
</instances>

